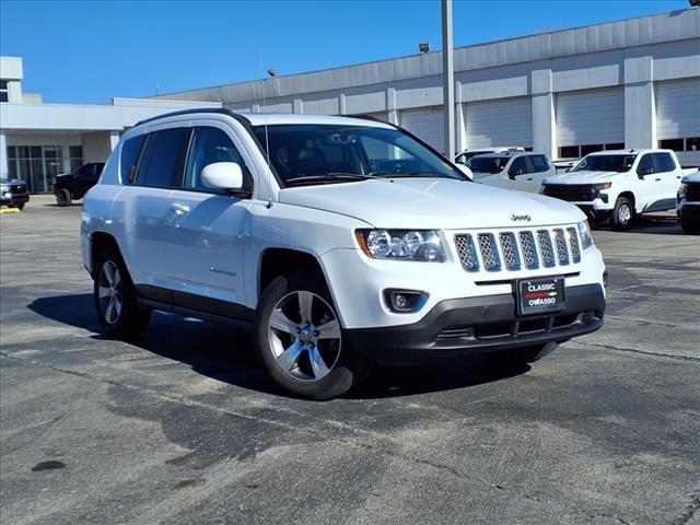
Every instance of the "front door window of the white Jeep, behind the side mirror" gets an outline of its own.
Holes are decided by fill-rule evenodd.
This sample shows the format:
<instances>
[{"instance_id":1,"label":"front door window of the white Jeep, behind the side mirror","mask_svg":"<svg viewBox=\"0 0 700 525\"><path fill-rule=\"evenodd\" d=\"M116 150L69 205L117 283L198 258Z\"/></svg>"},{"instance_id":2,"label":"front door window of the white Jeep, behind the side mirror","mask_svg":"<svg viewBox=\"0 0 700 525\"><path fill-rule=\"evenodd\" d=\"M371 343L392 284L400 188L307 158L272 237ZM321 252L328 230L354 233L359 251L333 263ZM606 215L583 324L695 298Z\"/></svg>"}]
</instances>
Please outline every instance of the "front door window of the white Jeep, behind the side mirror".
<instances>
[{"instance_id":1,"label":"front door window of the white Jeep, behind the side mirror","mask_svg":"<svg viewBox=\"0 0 700 525\"><path fill-rule=\"evenodd\" d=\"M245 161L229 136L219 128L201 127L195 128L183 187L213 191L201 182L201 172L214 162L235 162L238 164L246 177L247 186L248 176Z\"/></svg>"}]
</instances>

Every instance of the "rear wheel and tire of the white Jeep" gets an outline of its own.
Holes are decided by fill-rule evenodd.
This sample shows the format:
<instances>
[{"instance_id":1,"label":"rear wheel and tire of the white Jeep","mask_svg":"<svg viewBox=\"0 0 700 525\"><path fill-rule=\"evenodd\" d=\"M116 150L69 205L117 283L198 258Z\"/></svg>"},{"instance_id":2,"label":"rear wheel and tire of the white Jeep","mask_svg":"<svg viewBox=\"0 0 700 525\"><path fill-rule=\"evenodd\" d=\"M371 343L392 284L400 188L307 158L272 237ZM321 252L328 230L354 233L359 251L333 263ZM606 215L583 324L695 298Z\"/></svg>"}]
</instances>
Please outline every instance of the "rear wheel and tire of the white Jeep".
<instances>
[{"instance_id":1,"label":"rear wheel and tire of the white Jeep","mask_svg":"<svg viewBox=\"0 0 700 525\"><path fill-rule=\"evenodd\" d=\"M151 311L140 308L136 289L119 252L105 248L97 257L93 299L105 336L135 339L149 325Z\"/></svg>"}]
</instances>

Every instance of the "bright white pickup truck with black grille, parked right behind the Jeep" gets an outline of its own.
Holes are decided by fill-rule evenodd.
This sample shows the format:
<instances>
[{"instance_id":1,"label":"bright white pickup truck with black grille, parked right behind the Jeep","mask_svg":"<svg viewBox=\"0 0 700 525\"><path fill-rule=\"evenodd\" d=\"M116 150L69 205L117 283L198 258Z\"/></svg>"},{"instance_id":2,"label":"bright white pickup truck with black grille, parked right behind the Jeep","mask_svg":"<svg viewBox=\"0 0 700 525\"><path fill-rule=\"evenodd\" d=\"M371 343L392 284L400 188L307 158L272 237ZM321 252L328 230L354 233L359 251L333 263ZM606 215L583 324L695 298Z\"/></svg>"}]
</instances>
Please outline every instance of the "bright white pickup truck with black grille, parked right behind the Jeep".
<instances>
[{"instance_id":1,"label":"bright white pickup truck with black grille, parked right behind the Jeep","mask_svg":"<svg viewBox=\"0 0 700 525\"><path fill-rule=\"evenodd\" d=\"M575 203L591 220L627 230L635 215L672 210L682 170L670 150L610 150L584 156L547 178L544 195Z\"/></svg>"}]
</instances>

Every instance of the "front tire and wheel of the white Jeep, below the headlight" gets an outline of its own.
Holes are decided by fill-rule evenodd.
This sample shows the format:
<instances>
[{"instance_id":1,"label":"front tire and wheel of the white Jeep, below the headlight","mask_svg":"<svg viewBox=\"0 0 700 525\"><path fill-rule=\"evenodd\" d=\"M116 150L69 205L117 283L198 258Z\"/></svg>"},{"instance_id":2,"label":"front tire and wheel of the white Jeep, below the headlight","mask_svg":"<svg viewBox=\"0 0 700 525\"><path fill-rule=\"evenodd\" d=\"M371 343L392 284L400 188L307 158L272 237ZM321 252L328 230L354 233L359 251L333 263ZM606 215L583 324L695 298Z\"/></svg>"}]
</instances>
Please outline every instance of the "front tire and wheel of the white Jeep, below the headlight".
<instances>
[{"instance_id":1,"label":"front tire and wheel of the white Jeep, below the headlight","mask_svg":"<svg viewBox=\"0 0 700 525\"><path fill-rule=\"evenodd\" d=\"M370 370L345 337L323 278L285 273L265 290L255 319L255 347L272 381L290 394L331 399L357 386Z\"/></svg>"}]
</instances>

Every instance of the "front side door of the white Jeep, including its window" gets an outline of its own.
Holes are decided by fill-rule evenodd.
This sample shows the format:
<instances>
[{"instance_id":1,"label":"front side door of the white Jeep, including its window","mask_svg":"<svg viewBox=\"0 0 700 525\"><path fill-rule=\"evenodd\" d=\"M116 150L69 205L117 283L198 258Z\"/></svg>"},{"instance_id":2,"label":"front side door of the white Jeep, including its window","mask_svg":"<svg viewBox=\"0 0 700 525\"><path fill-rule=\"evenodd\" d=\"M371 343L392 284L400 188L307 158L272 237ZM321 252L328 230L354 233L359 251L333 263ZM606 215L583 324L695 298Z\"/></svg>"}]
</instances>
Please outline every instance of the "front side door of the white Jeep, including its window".
<instances>
[{"instance_id":1,"label":"front side door of the white Jeep, including its window","mask_svg":"<svg viewBox=\"0 0 700 525\"><path fill-rule=\"evenodd\" d=\"M243 317L243 246L247 241L249 194L229 195L208 188L202 170L214 162L235 162L253 190L252 165L234 130L211 121L192 128L182 184L168 196L166 219L170 268L177 305Z\"/></svg>"}]
</instances>

